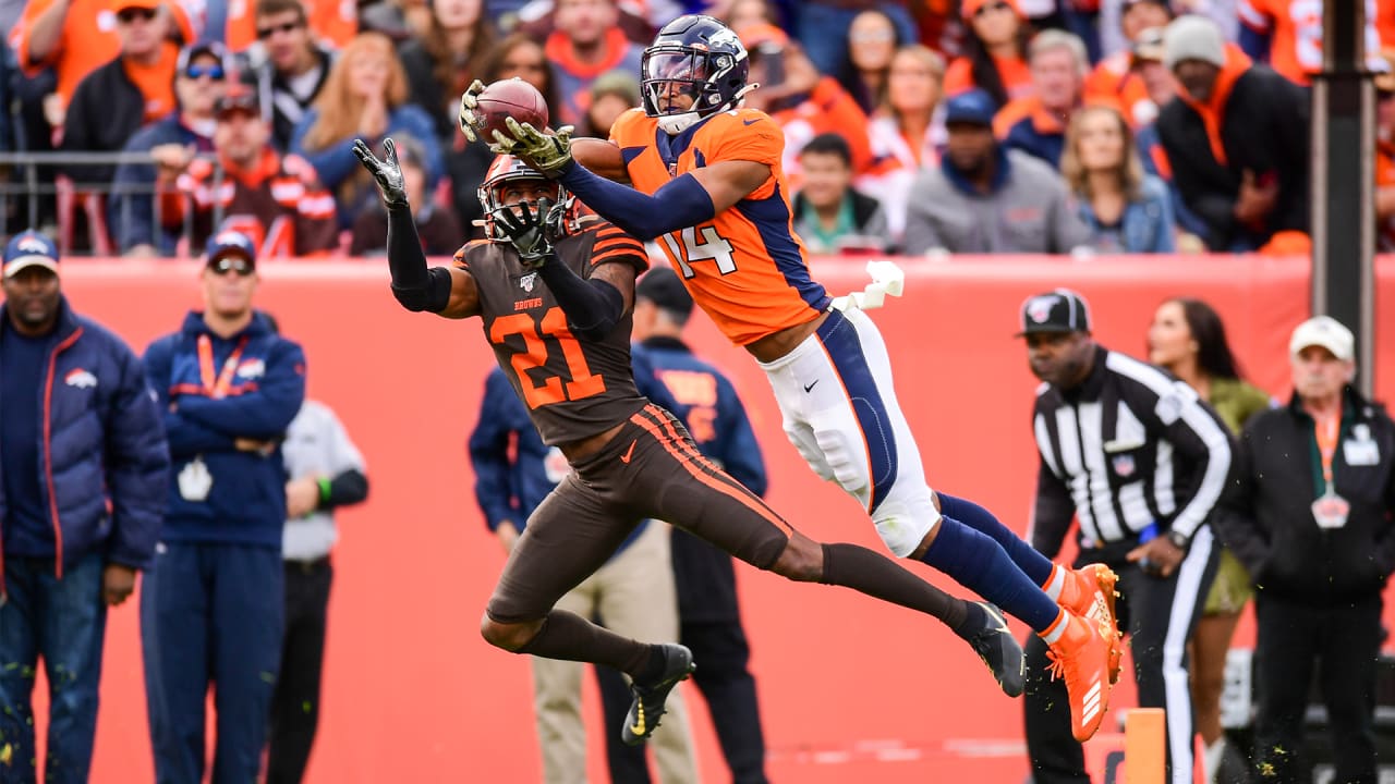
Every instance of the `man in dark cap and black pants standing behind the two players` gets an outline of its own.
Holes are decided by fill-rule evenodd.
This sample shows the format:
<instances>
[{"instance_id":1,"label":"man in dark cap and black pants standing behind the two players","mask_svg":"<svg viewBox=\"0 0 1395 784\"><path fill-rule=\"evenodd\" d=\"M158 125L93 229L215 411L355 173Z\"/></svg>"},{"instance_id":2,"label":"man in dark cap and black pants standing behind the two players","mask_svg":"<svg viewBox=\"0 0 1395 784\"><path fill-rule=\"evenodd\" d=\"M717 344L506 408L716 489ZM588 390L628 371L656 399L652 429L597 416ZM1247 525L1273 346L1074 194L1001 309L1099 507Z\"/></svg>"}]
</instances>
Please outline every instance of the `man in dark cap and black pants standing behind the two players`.
<instances>
[{"instance_id":1,"label":"man in dark cap and black pants standing behind the two players","mask_svg":"<svg viewBox=\"0 0 1395 784\"><path fill-rule=\"evenodd\" d=\"M654 372L688 421L698 449L756 495L766 494L766 465L737 388L716 367L693 356L682 340L693 299L678 275L656 266L635 286L635 331ZM674 529L674 578L678 585L678 642L702 667L702 689L734 784L764 784L766 746L760 731L756 681L746 664L751 646L737 605L731 555Z\"/></svg>"}]
</instances>

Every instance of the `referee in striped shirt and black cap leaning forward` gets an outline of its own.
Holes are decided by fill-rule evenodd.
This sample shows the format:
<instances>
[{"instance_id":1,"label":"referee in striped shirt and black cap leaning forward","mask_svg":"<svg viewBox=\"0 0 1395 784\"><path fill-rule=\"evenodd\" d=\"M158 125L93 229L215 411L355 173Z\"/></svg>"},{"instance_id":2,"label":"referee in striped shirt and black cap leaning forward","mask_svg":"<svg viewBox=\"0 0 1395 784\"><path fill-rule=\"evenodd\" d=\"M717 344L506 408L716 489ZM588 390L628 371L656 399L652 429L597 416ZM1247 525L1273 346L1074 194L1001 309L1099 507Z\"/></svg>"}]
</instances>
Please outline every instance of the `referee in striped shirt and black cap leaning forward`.
<instances>
[{"instance_id":1,"label":"referee in striped shirt and black cap leaning forward","mask_svg":"<svg viewBox=\"0 0 1395 784\"><path fill-rule=\"evenodd\" d=\"M1076 566L1119 575L1119 628L1133 638L1138 704L1168 711L1168 778L1191 781L1187 639L1219 550L1207 518L1225 487L1230 437L1186 384L1110 352L1091 335L1089 310L1056 289L1023 303L1021 338L1036 391L1032 425L1041 467L1031 543L1048 558L1080 519ZM1066 688L1048 678L1046 646L1027 646L1027 751L1036 784L1087 784L1071 738Z\"/></svg>"}]
</instances>

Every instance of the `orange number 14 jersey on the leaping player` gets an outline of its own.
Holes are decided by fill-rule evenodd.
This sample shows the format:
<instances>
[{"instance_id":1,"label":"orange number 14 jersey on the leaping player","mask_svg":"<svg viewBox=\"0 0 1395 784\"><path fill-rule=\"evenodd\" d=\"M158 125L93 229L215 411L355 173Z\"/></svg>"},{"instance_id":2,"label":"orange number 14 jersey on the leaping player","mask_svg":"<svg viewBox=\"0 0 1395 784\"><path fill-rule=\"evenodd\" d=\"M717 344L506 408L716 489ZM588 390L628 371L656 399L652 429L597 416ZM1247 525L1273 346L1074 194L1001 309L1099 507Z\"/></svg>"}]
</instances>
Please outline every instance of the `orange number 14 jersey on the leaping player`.
<instances>
[{"instance_id":1,"label":"orange number 14 jersey on the leaping player","mask_svg":"<svg viewBox=\"0 0 1395 784\"><path fill-rule=\"evenodd\" d=\"M770 179L710 222L658 237L693 301L738 346L817 318L830 297L809 276L794 233L790 188L780 158L784 134L764 112L735 109L670 137L658 120L631 109L611 127L638 190L723 160L770 166Z\"/></svg>"}]
</instances>

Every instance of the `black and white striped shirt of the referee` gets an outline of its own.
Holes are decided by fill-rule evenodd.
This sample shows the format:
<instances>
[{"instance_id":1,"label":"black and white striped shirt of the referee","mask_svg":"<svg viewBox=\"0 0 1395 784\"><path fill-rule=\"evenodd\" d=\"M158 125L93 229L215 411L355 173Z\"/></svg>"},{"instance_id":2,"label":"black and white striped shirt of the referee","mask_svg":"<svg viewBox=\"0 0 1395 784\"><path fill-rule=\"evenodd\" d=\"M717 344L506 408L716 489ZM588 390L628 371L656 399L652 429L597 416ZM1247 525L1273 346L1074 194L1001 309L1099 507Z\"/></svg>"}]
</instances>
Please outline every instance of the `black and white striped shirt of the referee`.
<instances>
[{"instance_id":1,"label":"black and white striped shirt of the referee","mask_svg":"<svg viewBox=\"0 0 1395 784\"><path fill-rule=\"evenodd\" d=\"M1078 388L1038 388L1032 425L1031 543L1052 558L1077 516L1085 547L1136 538L1154 522L1191 537L1230 470L1230 435L1196 391L1105 347Z\"/></svg>"}]
</instances>

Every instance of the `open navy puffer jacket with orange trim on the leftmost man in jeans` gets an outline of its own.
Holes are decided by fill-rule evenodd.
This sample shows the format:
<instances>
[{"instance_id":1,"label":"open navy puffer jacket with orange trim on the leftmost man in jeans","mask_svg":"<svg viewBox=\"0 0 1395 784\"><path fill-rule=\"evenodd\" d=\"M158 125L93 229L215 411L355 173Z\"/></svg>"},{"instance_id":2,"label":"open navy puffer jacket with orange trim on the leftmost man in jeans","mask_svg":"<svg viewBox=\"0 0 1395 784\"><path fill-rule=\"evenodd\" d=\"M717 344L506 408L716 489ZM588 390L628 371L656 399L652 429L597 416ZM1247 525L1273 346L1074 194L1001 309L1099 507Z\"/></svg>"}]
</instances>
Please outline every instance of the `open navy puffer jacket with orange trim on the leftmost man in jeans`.
<instances>
[{"instance_id":1,"label":"open navy puffer jacket with orange trim on the leftmost man in jeans","mask_svg":"<svg viewBox=\"0 0 1395 784\"><path fill-rule=\"evenodd\" d=\"M4 307L0 329L10 329ZM165 513L169 451L141 361L63 299L43 378L35 438L59 576L93 550L105 550L113 564L149 566Z\"/></svg>"}]
</instances>

